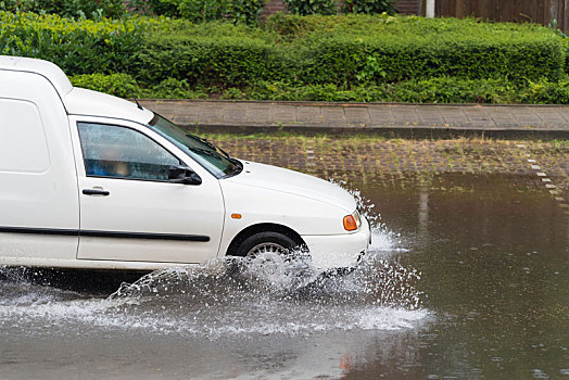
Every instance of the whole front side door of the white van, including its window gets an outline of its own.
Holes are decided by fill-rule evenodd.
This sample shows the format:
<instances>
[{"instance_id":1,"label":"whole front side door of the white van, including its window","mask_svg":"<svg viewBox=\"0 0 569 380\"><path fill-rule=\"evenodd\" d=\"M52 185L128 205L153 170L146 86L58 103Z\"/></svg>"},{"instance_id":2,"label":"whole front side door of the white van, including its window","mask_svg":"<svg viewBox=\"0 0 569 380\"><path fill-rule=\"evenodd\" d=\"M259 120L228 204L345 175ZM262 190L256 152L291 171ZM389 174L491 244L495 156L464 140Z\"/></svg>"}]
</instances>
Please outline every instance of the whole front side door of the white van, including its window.
<instances>
[{"instance_id":1,"label":"whole front side door of the white van, including its window","mask_svg":"<svg viewBox=\"0 0 569 380\"><path fill-rule=\"evenodd\" d=\"M224 202L215 177L144 126L73 122L80 157L78 259L201 263L217 255ZM170 165L190 166L202 182L168 181Z\"/></svg>"}]
</instances>

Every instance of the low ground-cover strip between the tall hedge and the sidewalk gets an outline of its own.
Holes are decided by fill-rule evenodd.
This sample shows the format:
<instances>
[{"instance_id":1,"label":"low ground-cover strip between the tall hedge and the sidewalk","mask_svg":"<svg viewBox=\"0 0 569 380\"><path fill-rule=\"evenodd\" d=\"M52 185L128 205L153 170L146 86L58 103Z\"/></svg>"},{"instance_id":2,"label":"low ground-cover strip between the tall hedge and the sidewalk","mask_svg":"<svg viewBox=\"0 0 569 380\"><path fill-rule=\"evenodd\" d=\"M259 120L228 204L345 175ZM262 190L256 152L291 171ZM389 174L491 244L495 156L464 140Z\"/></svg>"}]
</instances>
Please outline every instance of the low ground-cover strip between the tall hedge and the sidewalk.
<instances>
[{"instance_id":1,"label":"low ground-cover strip between the tall hedge and the sidewalk","mask_svg":"<svg viewBox=\"0 0 569 380\"><path fill-rule=\"evenodd\" d=\"M340 88L331 84L293 86L283 81L257 80L244 88L231 87L225 90L194 87L187 80L175 78L141 87L127 74L78 75L72 76L71 81L78 87L123 98L135 94L154 99L207 99L208 96L214 96L235 100L569 104L569 77L556 83L435 77L352 88Z\"/></svg>"}]
</instances>

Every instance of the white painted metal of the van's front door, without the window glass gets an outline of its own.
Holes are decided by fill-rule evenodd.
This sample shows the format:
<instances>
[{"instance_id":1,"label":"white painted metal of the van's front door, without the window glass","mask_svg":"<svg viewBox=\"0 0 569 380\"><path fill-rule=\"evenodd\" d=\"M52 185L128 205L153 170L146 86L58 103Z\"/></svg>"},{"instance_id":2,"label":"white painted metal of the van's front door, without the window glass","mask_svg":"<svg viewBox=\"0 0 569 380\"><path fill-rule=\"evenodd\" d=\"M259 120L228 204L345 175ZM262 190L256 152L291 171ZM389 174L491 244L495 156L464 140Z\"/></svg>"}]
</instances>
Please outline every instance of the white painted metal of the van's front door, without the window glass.
<instances>
[{"instance_id":1,"label":"white painted metal of the van's front door, without the window glass","mask_svg":"<svg viewBox=\"0 0 569 380\"><path fill-rule=\"evenodd\" d=\"M217 256L225 206L216 178L143 125L86 116L72 116L69 123L80 192L81 236L77 258L202 263ZM77 132L78 123L113 125L139 131L181 159L186 166L200 175L202 183L191 186L87 176ZM104 189L110 195L86 195L81 193L83 189ZM191 237L206 237L207 240L192 240Z\"/></svg>"}]
</instances>

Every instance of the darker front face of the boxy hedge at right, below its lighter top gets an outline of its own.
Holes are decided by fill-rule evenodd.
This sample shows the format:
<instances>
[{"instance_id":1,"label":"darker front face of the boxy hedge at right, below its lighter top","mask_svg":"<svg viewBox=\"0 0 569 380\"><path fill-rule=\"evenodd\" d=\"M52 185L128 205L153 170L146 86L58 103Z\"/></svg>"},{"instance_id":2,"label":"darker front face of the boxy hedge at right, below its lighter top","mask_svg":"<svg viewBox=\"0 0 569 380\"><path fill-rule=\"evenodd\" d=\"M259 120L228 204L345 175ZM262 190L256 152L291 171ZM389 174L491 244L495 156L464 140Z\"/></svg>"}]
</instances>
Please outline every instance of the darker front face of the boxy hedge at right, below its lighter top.
<instances>
[{"instance_id":1,"label":"darker front face of the boxy hedge at right, below its lighter top","mask_svg":"<svg viewBox=\"0 0 569 380\"><path fill-rule=\"evenodd\" d=\"M300 76L306 83L352 84L369 72L374 81L399 81L433 76L461 78L560 78L564 54L559 41L528 38L518 41L461 38L351 36L325 38L303 48ZM370 65L372 63L372 65Z\"/></svg>"}]
</instances>

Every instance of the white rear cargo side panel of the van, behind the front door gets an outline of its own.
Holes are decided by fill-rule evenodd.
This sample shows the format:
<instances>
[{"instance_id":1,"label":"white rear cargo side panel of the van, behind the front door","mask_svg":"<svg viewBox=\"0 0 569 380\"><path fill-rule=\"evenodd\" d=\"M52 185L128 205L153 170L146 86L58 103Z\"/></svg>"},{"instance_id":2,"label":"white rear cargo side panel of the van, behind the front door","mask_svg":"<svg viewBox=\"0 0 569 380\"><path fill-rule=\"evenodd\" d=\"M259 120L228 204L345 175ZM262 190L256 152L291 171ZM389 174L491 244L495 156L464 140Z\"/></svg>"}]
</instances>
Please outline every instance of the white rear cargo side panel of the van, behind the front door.
<instances>
[{"instance_id":1,"label":"white rear cargo side panel of the van, behind the front door","mask_svg":"<svg viewBox=\"0 0 569 380\"><path fill-rule=\"evenodd\" d=\"M79 200L68 121L43 76L0 71L0 264L69 266Z\"/></svg>"}]
</instances>

